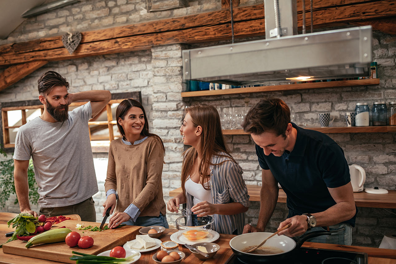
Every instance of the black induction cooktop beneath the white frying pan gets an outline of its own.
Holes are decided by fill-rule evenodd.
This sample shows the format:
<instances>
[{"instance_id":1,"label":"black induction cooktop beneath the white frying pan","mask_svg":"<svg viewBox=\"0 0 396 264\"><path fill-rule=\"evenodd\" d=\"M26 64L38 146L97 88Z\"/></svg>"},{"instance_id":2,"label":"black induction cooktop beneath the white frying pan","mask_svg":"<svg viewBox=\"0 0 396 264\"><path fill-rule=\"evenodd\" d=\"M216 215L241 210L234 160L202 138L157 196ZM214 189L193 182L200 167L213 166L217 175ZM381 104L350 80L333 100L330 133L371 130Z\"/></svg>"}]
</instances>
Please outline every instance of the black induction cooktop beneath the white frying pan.
<instances>
[{"instance_id":1,"label":"black induction cooktop beneath the white frying pan","mask_svg":"<svg viewBox=\"0 0 396 264\"><path fill-rule=\"evenodd\" d=\"M244 262L235 255L227 262L227 264L255 264ZM279 264L280 262L274 262ZM301 247L296 250L293 257L287 260L289 264L367 264L367 254L361 252L339 251L331 249L315 249Z\"/></svg>"}]
</instances>

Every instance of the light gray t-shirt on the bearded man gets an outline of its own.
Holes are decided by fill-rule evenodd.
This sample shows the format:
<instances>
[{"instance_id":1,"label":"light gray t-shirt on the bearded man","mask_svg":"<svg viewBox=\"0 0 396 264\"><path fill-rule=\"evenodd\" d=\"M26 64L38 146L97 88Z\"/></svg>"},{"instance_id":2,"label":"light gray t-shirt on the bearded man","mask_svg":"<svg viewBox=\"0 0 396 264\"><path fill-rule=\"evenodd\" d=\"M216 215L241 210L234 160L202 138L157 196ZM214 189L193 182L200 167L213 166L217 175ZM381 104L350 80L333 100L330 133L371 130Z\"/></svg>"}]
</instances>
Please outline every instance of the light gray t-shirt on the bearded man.
<instances>
[{"instance_id":1,"label":"light gray t-shirt on the bearded man","mask_svg":"<svg viewBox=\"0 0 396 264\"><path fill-rule=\"evenodd\" d=\"M91 115L88 102L69 111L63 123L36 117L19 128L13 158L32 156L40 207L74 205L98 192L88 132Z\"/></svg>"}]
</instances>

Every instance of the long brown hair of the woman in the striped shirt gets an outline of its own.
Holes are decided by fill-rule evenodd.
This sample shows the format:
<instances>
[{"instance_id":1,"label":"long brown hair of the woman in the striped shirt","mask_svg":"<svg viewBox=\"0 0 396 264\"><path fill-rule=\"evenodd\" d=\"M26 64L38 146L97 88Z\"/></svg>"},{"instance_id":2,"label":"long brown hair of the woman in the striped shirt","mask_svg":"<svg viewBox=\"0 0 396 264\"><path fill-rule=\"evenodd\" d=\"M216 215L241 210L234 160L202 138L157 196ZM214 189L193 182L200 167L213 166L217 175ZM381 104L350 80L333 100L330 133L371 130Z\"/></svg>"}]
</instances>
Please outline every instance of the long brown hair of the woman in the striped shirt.
<instances>
[{"instance_id":1,"label":"long brown hair of the woman in the striped shirt","mask_svg":"<svg viewBox=\"0 0 396 264\"><path fill-rule=\"evenodd\" d=\"M195 127L202 127L202 134L200 142L198 143L198 148L202 153L202 160L199 165L199 175L202 187L209 190L208 181L210 175L207 173L209 170L209 165L219 165L225 163L223 161L218 164L211 163L213 155L218 155L220 157L227 157L230 160L236 161L232 158L230 150L225 143L223 133L221 132L220 117L217 109L211 105L194 105L187 108L187 113L190 113L192 123ZM220 154L221 152L227 155ZM192 173L194 168L194 163L198 157L198 152L194 147L188 148L183 153L183 166L181 168L181 187L183 189L183 194L186 195L185 182L188 176Z\"/></svg>"}]
</instances>

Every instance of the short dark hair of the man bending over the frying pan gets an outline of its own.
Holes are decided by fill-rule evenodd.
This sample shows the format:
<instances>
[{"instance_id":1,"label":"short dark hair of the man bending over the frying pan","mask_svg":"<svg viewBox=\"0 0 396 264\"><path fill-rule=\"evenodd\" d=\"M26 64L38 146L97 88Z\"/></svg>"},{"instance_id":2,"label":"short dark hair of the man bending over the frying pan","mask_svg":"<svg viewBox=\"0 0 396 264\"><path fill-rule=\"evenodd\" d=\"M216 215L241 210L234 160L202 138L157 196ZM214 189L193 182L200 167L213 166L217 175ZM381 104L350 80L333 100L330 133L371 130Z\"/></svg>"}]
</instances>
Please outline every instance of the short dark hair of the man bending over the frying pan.
<instances>
[{"instance_id":1,"label":"short dark hair of the man bending over the frying pan","mask_svg":"<svg viewBox=\"0 0 396 264\"><path fill-rule=\"evenodd\" d=\"M286 137L287 124L290 123L290 109L279 98L261 99L245 117L242 127L250 134L274 132Z\"/></svg>"}]
</instances>

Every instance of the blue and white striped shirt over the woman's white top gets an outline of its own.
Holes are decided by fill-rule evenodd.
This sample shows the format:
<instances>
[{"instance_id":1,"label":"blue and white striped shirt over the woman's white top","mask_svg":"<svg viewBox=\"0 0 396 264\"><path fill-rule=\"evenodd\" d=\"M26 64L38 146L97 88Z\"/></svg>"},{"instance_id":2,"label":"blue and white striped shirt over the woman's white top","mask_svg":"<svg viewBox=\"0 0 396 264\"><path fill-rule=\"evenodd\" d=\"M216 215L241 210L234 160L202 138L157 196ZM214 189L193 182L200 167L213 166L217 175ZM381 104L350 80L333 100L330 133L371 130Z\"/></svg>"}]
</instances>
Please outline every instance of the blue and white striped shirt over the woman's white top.
<instances>
[{"instance_id":1,"label":"blue and white striped shirt over the woman's white top","mask_svg":"<svg viewBox=\"0 0 396 264\"><path fill-rule=\"evenodd\" d=\"M226 153L221 153L227 155ZM243 179L242 168L238 163L234 163L227 157L213 156L211 163L221 165L210 165L210 190L212 203L240 203L244 207L249 207L249 195ZM191 210L194 205L194 197L186 192L187 209ZM245 225L245 213L240 214L214 214L215 220L213 230L218 233L232 234L237 230L238 235L242 234Z\"/></svg>"}]
</instances>

